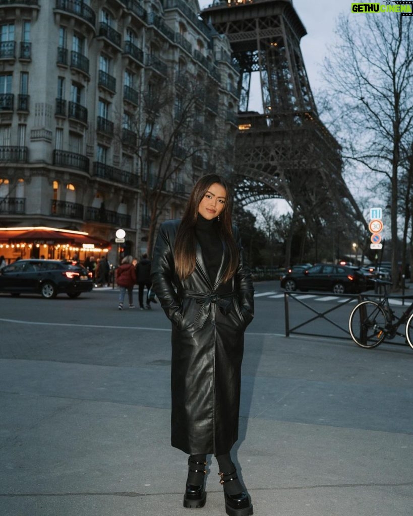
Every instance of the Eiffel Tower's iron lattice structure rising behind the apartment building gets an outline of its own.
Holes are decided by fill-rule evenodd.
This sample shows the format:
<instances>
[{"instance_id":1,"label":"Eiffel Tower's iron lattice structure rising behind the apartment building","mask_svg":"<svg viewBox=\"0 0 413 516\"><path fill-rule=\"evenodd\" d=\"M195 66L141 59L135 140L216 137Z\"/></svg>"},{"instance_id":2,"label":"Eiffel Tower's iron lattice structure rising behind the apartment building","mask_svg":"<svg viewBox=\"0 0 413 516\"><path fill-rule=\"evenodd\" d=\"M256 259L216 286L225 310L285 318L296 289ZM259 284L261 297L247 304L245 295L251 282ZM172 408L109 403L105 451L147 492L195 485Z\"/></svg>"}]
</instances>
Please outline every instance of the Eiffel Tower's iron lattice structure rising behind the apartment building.
<instances>
[{"instance_id":1,"label":"Eiffel Tower's iron lattice structure rising behind the apartment building","mask_svg":"<svg viewBox=\"0 0 413 516\"><path fill-rule=\"evenodd\" d=\"M307 224L367 228L342 178L340 146L317 114L292 1L214 0L201 17L228 37L240 69L237 200L284 198ZM257 83L260 106L251 109Z\"/></svg>"}]
</instances>

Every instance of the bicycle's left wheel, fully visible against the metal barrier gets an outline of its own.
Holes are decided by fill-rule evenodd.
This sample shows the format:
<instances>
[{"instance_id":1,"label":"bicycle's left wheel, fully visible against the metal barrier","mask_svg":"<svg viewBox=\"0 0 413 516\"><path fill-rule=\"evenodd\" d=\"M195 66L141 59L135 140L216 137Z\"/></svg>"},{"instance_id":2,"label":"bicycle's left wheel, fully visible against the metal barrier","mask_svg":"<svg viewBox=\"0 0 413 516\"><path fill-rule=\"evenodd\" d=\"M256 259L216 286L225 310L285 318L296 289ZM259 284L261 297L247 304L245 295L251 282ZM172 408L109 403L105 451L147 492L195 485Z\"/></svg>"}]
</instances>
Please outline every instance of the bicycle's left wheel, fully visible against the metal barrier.
<instances>
[{"instance_id":1,"label":"bicycle's left wheel, fully visible against the metal barrier","mask_svg":"<svg viewBox=\"0 0 413 516\"><path fill-rule=\"evenodd\" d=\"M384 341L387 316L374 301L362 301L354 307L348 320L353 341L362 348L375 348Z\"/></svg>"}]
</instances>

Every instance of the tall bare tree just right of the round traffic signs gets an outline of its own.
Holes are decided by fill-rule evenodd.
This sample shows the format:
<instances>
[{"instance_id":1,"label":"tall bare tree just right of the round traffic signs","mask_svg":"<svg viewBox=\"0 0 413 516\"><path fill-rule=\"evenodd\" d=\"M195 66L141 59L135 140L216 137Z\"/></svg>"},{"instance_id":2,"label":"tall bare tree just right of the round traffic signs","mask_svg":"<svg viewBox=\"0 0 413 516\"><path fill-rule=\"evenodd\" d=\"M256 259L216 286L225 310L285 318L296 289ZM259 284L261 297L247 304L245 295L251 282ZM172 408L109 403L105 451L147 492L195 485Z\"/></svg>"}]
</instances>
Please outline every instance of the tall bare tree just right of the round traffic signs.
<instances>
[{"instance_id":1,"label":"tall bare tree just right of the round traffic signs","mask_svg":"<svg viewBox=\"0 0 413 516\"><path fill-rule=\"evenodd\" d=\"M406 173L402 148L409 147L413 135L413 21L395 13L342 16L336 32L339 40L324 66L333 118L344 156L370 173L371 182L379 181L376 174L385 177L395 288L399 181Z\"/></svg>"}]
</instances>

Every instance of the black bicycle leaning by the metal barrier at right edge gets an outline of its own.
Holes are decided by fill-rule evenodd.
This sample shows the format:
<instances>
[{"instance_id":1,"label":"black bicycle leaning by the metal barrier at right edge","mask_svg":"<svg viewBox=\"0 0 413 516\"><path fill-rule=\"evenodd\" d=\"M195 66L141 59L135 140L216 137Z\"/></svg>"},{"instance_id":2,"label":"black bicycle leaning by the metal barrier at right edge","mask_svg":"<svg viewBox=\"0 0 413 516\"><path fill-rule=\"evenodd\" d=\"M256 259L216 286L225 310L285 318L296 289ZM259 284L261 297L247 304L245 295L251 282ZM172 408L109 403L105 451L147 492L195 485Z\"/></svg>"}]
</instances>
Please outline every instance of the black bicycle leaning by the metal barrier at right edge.
<instances>
[{"instance_id":1,"label":"black bicycle leaning by the metal barrier at right edge","mask_svg":"<svg viewBox=\"0 0 413 516\"><path fill-rule=\"evenodd\" d=\"M391 340L396 335L404 336L398 329L406 324L406 340L413 349L413 302L400 317L396 316L390 308L386 288L386 285L392 283L385 280L375 281L383 285L384 296L379 302L361 301L354 307L348 320L348 328L353 341L362 348L375 348L385 338Z\"/></svg>"}]
</instances>

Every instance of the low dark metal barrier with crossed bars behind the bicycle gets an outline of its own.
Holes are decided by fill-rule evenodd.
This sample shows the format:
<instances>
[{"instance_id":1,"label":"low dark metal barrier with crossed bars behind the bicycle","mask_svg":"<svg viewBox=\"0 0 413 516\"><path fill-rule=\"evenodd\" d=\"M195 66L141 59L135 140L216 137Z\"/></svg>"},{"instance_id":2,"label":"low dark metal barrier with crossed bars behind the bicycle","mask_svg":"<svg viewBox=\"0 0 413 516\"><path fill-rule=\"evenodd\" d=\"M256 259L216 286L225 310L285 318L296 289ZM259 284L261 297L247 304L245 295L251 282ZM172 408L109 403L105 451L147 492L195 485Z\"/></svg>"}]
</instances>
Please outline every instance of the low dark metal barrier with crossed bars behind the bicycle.
<instances>
[{"instance_id":1,"label":"low dark metal barrier with crossed bars behind the bicycle","mask_svg":"<svg viewBox=\"0 0 413 516\"><path fill-rule=\"evenodd\" d=\"M326 310L317 310L317 306L319 305L310 305L307 302L305 302L306 299L309 298L321 298L321 301L328 301L337 299L337 301L331 306L329 305ZM350 335L350 331L348 330L348 319L350 317L351 310L354 308L354 306L359 303L360 301L367 300L367 299L379 299L380 295L378 294L331 294L331 293L322 293L322 292L312 292L312 293L301 293L301 292L285 292L284 293L284 312L285 312L285 336L289 337L290 335L306 335L306 336L313 336L313 337L323 337L323 338L334 338L336 339L345 339L345 340L351 340L352 337ZM324 298L324 299L323 299ZM400 307L401 309L404 309L404 304L406 299L412 299L412 296L390 296L391 304L397 303L392 306L393 310L396 310L396 307ZM311 312L311 317L303 318L301 314L301 317L295 317L295 319L300 319L298 322L295 321L292 323L292 311L290 313L290 302L297 303L299 307L303 308L304 310L301 311L304 313L307 313L307 311ZM352 304L352 307L348 307L348 305ZM409 303L410 304L410 303ZM348 308L348 313L344 313L344 309ZM296 315L296 312L294 315ZM338 317L333 319L332 314L339 312ZM323 333L320 331L317 332L316 325L314 325L314 322L317 322L319 320L326 321L328 323L328 328L330 328L331 332L327 333L325 330L325 325L323 327ZM314 327L315 326L315 327ZM335 331L335 333L332 333L332 330ZM401 330L403 330L401 328ZM353 341L352 341L353 342ZM384 343L386 344L396 344L396 345L403 345L407 346L405 340L401 342L401 339L399 337L395 337L392 340L385 340Z\"/></svg>"}]
</instances>

